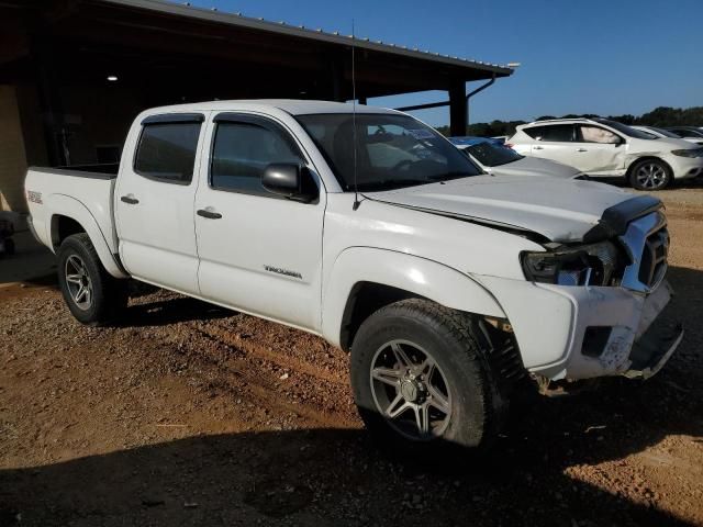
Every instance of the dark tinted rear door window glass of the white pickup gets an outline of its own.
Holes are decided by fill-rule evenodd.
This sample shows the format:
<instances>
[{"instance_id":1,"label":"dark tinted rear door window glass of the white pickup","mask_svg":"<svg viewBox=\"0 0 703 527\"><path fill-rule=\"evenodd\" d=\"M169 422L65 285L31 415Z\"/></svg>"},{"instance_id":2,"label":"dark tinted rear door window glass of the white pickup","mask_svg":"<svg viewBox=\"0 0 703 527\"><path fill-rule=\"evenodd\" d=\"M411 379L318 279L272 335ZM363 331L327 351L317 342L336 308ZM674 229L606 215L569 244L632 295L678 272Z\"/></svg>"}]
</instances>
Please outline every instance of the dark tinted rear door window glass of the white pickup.
<instances>
[{"instance_id":1,"label":"dark tinted rear door window glass of the white pickup","mask_svg":"<svg viewBox=\"0 0 703 527\"><path fill-rule=\"evenodd\" d=\"M134 171L149 179L188 184L193 179L199 122L145 123Z\"/></svg>"}]
</instances>

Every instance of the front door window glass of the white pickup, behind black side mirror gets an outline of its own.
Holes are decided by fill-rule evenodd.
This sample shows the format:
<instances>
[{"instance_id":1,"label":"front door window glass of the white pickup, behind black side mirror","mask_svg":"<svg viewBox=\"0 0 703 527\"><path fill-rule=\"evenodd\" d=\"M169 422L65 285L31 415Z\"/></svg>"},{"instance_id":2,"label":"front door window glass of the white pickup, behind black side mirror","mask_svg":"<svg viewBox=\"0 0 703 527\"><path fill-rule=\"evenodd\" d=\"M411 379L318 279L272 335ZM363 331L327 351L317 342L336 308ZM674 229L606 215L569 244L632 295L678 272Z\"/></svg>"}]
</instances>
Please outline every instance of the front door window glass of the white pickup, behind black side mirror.
<instances>
[{"instance_id":1,"label":"front door window glass of the white pickup, behind black side mirror","mask_svg":"<svg viewBox=\"0 0 703 527\"><path fill-rule=\"evenodd\" d=\"M284 132L267 123L216 123L210 166L213 189L276 198L261 186L264 170L274 162L303 164Z\"/></svg>"}]
</instances>

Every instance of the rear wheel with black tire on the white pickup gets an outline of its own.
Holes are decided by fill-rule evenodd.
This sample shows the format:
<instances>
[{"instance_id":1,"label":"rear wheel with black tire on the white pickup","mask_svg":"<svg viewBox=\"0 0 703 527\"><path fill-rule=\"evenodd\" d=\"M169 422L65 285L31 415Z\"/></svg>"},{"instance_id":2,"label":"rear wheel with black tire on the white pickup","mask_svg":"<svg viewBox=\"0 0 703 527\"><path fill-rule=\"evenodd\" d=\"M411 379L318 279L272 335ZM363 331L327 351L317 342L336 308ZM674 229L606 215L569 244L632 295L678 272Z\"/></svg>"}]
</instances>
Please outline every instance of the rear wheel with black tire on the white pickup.
<instances>
[{"instance_id":1,"label":"rear wheel with black tire on the white pickup","mask_svg":"<svg viewBox=\"0 0 703 527\"><path fill-rule=\"evenodd\" d=\"M58 283L71 314L83 324L115 319L127 304L127 281L112 277L86 233L68 236L57 253ZM82 266L82 271L77 267ZM89 293L80 288L88 289ZM77 294L78 293L78 294Z\"/></svg>"}]
</instances>

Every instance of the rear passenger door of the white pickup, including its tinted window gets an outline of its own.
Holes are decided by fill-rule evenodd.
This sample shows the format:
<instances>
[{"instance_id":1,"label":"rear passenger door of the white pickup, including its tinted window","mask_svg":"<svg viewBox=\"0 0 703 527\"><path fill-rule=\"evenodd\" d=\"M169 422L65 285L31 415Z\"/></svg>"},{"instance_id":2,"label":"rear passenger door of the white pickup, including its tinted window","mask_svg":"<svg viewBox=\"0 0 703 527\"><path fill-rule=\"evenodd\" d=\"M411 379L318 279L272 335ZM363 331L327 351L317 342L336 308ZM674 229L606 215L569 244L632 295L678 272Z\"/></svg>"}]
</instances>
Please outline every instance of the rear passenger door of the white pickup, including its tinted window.
<instances>
[{"instance_id":1,"label":"rear passenger door of the white pickup, including its tinted window","mask_svg":"<svg viewBox=\"0 0 703 527\"><path fill-rule=\"evenodd\" d=\"M120 257L135 278L198 294L193 178L204 115L152 115L142 122L131 162L115 189Z\"/></svg>"}]
</instances>

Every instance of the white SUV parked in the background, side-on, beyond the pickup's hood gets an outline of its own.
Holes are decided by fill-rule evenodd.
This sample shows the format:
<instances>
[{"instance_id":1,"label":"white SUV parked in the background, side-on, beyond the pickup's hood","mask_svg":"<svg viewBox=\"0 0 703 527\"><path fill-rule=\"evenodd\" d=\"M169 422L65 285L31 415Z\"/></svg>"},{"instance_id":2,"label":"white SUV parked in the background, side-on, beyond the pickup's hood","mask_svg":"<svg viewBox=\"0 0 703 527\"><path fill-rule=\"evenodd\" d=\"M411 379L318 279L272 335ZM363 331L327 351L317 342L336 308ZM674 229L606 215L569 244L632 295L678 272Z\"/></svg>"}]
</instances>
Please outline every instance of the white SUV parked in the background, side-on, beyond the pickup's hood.
<instances>
[{"instance_id":1,"label":"white SUV parked in the background, side-on, beyond the pickup's hood","mask_svg":"<svg viewBox=\"0 0 703 527\"><path fill-rule=\"evenodd\" d=\"M525 156L576 167L596 178L623 178L639 190L703 175L703 148L658 138L605 119L557 119L517 126L507 144Z\"/></svg>"}]
</instances>

